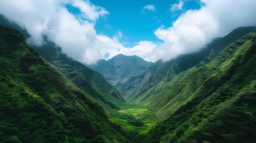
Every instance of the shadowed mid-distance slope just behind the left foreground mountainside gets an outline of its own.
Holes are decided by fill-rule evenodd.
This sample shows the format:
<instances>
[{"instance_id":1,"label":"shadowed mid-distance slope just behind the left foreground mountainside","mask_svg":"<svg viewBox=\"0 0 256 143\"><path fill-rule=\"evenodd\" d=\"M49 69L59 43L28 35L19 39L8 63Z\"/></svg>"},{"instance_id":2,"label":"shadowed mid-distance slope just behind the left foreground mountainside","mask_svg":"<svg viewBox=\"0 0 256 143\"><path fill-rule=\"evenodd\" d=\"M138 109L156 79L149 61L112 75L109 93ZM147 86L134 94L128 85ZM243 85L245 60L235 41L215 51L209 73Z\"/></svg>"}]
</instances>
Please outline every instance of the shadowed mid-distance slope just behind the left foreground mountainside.
<instances>
[{"instance_id":1,"label":"shadowed mid-distance slope just behind the left foreground mountainside","mask_svg":"<svg viewBox=\"0 0 256 143\"><path fill-rule=\"evenodd\" d=\"M110 85L104 77L84 64L72 60L67 55L58 52L54 43L45 43L43 46L33 46L39 55L61 71L70 81L80 89L88 92L106 108L119 108L118 104L125 102L124 98L114 86Z\"/></svg>"}]
</instances>

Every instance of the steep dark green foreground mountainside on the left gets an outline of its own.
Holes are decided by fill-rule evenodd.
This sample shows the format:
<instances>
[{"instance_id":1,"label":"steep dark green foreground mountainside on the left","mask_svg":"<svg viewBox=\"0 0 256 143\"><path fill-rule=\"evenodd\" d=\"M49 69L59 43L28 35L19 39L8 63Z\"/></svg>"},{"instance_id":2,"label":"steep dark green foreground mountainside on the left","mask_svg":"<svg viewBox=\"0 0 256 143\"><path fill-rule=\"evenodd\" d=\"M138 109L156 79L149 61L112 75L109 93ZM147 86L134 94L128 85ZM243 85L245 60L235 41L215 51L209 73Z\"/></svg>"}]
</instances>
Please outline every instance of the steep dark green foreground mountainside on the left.
<instances>
[{"instance_id":1,"label":"steep dark green foreground mountainside on the left","mask_svg":"<svg viewBox=\"0 0 256 143\"><path fill-rule=\"evenodd\" d=\"M17 30L0 26L0 51L0 142L132 142Z\"/></svg>"}]
</instances>

